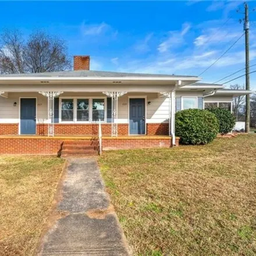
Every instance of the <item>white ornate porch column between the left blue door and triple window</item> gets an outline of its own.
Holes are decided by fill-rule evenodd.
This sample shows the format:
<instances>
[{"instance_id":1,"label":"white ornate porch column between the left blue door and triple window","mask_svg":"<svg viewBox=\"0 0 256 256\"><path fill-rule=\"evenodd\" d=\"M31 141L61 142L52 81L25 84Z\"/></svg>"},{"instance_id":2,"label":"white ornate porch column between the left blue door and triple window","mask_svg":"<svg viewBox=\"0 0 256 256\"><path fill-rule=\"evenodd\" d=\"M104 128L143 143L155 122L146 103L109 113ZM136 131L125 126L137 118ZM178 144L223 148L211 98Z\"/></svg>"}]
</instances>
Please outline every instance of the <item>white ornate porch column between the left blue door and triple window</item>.
<instances>
[{"instance_id":1,"label":"white ornate porch column between the left blue door and triple window","mask_svg":"<svg viewBox=\"0 0 256 256\"><path fill-rule=\"evenodd\" d=\"M48 136L54 136L54 97L63 91L40 91L40 94L48 98Z\"/></svg>"}]
</instances>

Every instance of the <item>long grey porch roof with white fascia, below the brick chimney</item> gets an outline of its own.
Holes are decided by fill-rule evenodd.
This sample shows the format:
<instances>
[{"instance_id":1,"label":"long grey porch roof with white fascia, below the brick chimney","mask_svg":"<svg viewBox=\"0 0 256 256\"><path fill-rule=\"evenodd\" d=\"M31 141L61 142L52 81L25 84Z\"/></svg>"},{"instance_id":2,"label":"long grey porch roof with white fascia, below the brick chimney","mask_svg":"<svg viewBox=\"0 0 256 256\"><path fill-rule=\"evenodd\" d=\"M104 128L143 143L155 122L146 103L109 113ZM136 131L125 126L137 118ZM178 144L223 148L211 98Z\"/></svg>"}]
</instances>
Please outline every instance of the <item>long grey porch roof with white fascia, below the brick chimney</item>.
<instances>
[{"instance_id":1,"label":"long grey porch roof with white fascia, below the brick chimney","mask_svg":"<svg viewBox=\"0 0 256 256\"><path fill-rule=\"evenodd\" d=\"M76 70L4 74L0 76L0 91L158 92L170 91L199 80L201 78L197 76Z\"/></svg>"}]
</instances>

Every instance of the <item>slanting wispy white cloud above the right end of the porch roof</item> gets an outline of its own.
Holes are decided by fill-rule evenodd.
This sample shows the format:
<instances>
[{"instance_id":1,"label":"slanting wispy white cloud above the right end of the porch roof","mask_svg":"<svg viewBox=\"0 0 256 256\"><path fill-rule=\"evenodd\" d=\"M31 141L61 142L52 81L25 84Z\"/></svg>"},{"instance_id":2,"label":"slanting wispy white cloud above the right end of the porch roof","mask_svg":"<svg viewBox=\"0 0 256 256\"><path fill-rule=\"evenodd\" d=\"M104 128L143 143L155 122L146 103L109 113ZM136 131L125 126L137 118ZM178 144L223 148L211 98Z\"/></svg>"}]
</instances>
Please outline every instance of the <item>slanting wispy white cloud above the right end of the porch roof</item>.
<instances>
[{"instance_id":1,"label":"slanting wispy white cloud above the right end of the porch roof","mask_svg":"<svg viewBox=\"0 0 256 256\"><path fill-rule=\"evenodd\" d=\"M184 35L190 30L190 24L184 23L181 31L169 31L169 37L158 45L158 51L163 53L169 51L170 48L181 45L184 42Z\"/></svg>"}]
</instances>

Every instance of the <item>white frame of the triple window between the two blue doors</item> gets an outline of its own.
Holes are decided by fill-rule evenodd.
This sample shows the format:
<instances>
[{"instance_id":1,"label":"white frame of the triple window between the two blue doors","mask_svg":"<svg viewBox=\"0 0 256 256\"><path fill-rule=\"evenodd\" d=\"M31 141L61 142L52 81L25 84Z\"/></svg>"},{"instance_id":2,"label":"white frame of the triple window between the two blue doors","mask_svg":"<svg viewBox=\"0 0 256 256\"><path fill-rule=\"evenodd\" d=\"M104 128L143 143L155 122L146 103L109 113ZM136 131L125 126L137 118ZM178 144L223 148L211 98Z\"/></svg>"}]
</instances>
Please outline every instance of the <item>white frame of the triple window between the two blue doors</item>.
<instances>
[{"instance_id":1,"label":"white frame of the triple window between the two blue doors","mask_svg":"<svg viewBox=\"0 0 256 256\"><path fill-rule=\"evenodd\" d=\"M61 111L62 111L62 99L73 99L73 121L62 121ZM77 120L77 99L88 99L89 100L89 120L88 121L78 121ZM106 97L59 97L59 123L98 123L98 121L93 121L93 99L104 99L104 121L101 123L106 123Z\"/></svg>"}]
</instances>

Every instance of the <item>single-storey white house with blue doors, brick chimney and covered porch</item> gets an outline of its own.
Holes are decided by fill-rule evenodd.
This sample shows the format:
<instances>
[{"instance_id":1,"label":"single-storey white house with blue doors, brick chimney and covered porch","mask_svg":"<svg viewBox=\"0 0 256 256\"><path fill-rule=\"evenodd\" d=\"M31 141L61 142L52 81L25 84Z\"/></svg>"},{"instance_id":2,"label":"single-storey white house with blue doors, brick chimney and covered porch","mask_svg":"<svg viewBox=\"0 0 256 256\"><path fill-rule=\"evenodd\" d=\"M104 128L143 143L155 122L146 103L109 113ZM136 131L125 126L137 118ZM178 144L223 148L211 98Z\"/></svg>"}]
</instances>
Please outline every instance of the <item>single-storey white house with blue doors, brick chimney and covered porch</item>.
<instances>
[{"instance_id":1,"label":"single-storey white house with blue doors, brick chimney and covered porch","mask_svg":"<svg viewBox=\"0 0 256 256\"><path fill-rule=\"evenodd\" d=\"M100 72L89 66L89 56L74 56L74 71L0 76L0 135L6 140L98 136L100 120L103 136L126 136L130 148L138 141L132 135L173 135L175 144L175 111L210 106L232 111L233 97L253 93L197 83L197 76ZM155 145L166 146L158 140ZM111 141L105 148L122 148Z\"/></svg>"}]
</instances>

